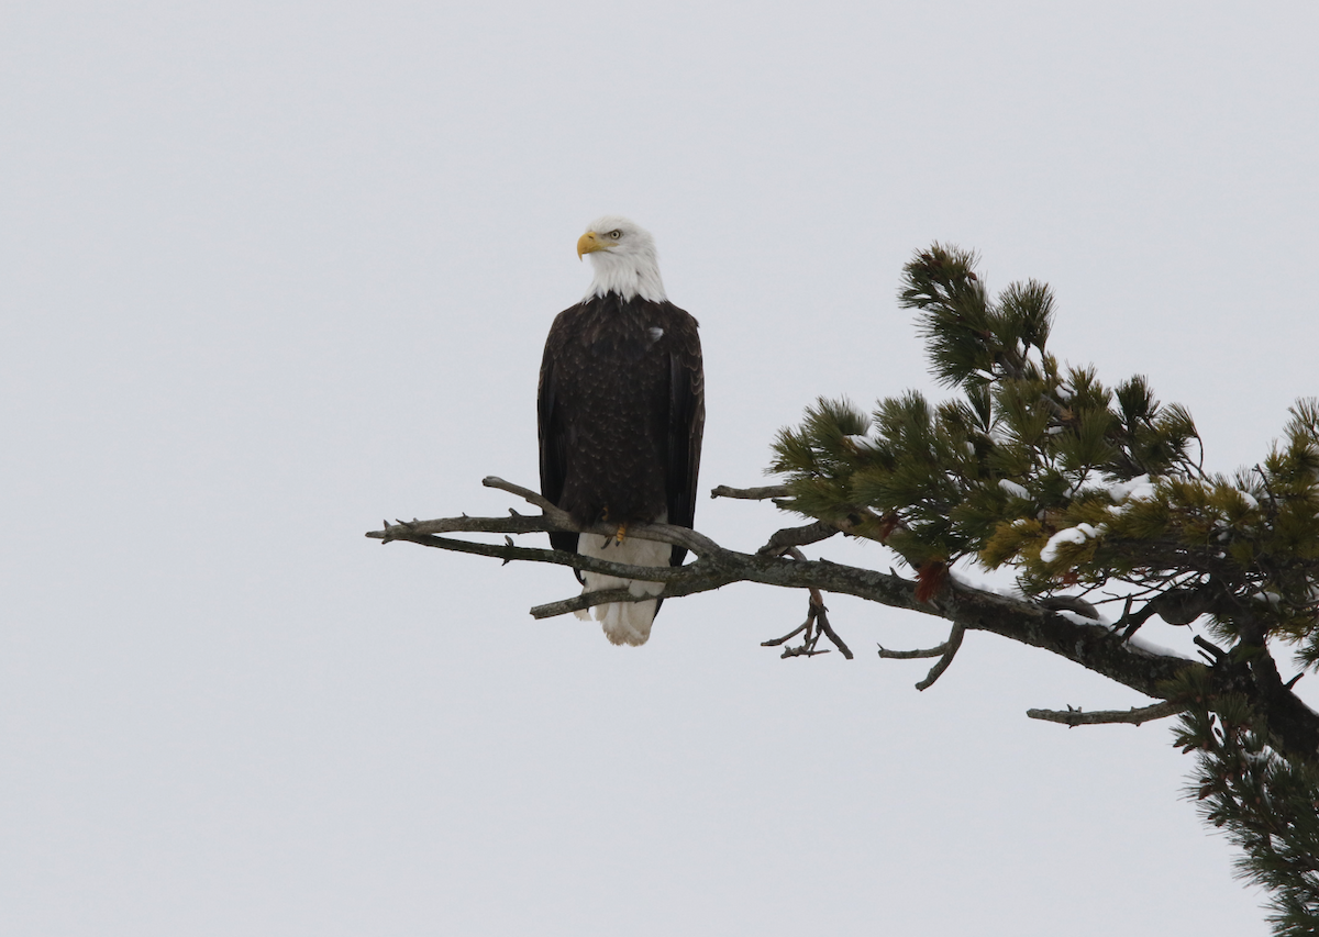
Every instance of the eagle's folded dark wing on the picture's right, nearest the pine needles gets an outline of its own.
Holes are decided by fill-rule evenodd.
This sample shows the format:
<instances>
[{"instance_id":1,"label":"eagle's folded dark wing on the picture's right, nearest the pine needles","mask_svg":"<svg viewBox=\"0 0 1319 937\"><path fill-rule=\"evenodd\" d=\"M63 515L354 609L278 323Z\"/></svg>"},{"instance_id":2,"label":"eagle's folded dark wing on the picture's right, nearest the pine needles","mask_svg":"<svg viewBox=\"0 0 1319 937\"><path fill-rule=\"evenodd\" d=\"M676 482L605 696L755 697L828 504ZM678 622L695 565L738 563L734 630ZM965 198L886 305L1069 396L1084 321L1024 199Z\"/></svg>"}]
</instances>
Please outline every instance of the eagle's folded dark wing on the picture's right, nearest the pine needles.
<instances>
[{"instance_id":1,"label":"eagle's folded dark wing on the picture's right, nearest the pine needles","mask_svg":"<svg viewBox=\"0 0 1319 937\"><path fill-rule=\"evenodd\" d=\"M669 352L669 523L691 527L696 515L696 474L700 436L706 428L706 374L700 361L696 320L677 310L674 341ZM670 565L681 565L687 551L674 547Z\"/></svg>"}]
</instances>

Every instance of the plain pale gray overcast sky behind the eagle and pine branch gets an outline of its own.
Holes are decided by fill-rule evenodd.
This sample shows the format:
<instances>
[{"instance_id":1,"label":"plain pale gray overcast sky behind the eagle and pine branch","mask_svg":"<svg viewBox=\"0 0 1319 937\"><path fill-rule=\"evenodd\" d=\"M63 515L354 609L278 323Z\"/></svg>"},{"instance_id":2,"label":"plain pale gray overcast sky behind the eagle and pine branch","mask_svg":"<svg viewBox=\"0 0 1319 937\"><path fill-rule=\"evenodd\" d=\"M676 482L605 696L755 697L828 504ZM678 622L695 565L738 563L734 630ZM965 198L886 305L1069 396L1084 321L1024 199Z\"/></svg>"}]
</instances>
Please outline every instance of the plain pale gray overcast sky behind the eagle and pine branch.
<instances>
[{"instance_id":1,"label":"plain pale gray overcast sky behind the eagle and pine branch","mask_svg":"<svg viewBox=\"0 0 1319 937\"><path fill-rule=\"evenodd\" d=\"M1213 469L1315 394L1311 4L8 4L0 930L1264 934L1142 698L835 600L534 622L505 511L605 212L702 323L702 486L818 394L931 387L904 261L1058 295ZM752 548L787 518L703 501ZM530 540L528 540L530 543ZM816 551L819 552L819 551ZM823 555L886 568L877 547ZM1148 626L1163 643L1186 639ZM1179 644L1181 646L1181 644ZM1304 685L1304 684L1302 684Z\"/></svg>"}]
</instances>

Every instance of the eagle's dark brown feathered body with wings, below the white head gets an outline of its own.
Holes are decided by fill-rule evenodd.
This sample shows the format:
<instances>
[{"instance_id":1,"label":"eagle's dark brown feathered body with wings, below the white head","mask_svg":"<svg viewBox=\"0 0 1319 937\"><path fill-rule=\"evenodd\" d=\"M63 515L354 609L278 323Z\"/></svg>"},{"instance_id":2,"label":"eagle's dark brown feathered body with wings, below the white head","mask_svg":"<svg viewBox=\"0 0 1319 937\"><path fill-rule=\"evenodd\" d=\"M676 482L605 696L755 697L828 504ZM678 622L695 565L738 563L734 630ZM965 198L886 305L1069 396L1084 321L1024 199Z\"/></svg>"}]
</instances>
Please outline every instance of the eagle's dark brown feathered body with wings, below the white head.
<instances>
[{"instance_id":1,"label":"eagle's dark brown feathered body with wings, below the white head","mask_svg":"<svg viewBox=\"0 0 1319 937\"><path fill-rule=\"evenodd\" d=\"M579 525L690 527L704 377L696 320L670 302L616 293L563 310L550 327L538 401L541 493ZM550 534L576 550L576 534ZM678 565L686 551L674 547Z\"/></svg>"}]
</instances>

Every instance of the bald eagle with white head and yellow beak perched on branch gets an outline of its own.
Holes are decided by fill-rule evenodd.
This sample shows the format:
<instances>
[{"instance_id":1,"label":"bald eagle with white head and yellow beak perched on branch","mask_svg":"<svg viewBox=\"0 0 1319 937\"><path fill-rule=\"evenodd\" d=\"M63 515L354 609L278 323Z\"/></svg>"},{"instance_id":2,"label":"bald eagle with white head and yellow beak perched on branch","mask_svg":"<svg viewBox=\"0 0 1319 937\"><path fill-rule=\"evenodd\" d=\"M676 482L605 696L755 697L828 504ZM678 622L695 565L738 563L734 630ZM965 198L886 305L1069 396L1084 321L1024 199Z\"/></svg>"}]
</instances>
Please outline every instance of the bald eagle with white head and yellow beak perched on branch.
<instances>
[{"instance_id":1,"label":"bald eagle with white head and yellow beak perched on branch","mask_svg":"<svg viewBox=\"0 0 1319 937\"><path fill-rule=\"evenodd\" d=\"M555 550L634 565L679 565L686 550L627 536L629 525L691 527L696 507L704 374L696 320L669 302L650 235L624 217L595 221L578 240L595 279L550 326L541 362L541 493L580 526L617 536L551 532ZM578 573L583 592L662 582ZM615 644L644 644L662 600L595 606ZM578 611L579 618L590 618Z\"/></svg>"}]
</instances>

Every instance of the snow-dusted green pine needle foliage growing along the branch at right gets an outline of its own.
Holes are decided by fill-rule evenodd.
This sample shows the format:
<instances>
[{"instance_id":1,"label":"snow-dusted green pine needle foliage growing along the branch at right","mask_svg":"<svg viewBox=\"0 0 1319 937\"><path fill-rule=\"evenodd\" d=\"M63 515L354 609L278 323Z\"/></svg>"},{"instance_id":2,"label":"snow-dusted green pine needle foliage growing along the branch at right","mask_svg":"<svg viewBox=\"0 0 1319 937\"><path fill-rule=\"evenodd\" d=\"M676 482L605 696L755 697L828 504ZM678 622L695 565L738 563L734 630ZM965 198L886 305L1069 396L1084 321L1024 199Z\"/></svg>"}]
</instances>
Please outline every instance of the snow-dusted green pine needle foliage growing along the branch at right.
<instances>
[{"instance_id":1,"label":"snow-dusted green pine needle foliage growing along the branch at right","mask_svg":"<svg viewBox=\"0 0 1319 937\"><path fill-rule=\"evenodd\" d=\"M975 264L935 244L898 294L954 397L907 391L871 414L819 399L774 443L770 470L791 494L781 506L882 542L913 569L1005 567L1028 597L1125 598L1119 623L1134 627L1204 615L1239 659L1273 639L1319 669L1319 402L1293 407L1258 465L1206 472L1184 407L1144 377L1105 385L1062 364L1049 287L991 297ZM1128 619L1133 602L1144 617ZM1273 892L1278 933L1319 933L1316 767L1270 749L1233 705L1215 700L1182 727L1200 752L1196 795L1244 849L1242 875Z\"/></svg>"}]
</instances>

